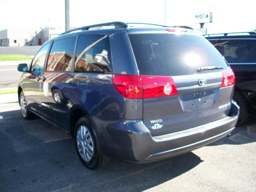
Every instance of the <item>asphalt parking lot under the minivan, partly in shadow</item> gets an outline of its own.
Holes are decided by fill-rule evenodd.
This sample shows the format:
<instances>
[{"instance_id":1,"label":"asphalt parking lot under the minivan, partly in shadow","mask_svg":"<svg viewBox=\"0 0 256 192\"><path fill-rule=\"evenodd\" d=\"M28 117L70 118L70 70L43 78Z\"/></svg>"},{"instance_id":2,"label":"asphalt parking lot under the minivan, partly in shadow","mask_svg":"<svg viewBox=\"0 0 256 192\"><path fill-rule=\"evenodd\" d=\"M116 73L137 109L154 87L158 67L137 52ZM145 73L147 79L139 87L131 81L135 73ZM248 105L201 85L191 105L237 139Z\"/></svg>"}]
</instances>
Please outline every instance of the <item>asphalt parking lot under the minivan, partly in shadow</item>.
<instances>
[{"instance_id":1,"label":"asphalt parking lot under the minivan, partly in shadow","mask_svg":"<svg viewBox=\"0 0 256 192\"><path fill-rule=\"evenodd\" d=\"M0 191L256 191L256 114L229 138L187 154L99 170L80 162L73 139L18 103L0 104Z\"/></svg>"}]
</instances>

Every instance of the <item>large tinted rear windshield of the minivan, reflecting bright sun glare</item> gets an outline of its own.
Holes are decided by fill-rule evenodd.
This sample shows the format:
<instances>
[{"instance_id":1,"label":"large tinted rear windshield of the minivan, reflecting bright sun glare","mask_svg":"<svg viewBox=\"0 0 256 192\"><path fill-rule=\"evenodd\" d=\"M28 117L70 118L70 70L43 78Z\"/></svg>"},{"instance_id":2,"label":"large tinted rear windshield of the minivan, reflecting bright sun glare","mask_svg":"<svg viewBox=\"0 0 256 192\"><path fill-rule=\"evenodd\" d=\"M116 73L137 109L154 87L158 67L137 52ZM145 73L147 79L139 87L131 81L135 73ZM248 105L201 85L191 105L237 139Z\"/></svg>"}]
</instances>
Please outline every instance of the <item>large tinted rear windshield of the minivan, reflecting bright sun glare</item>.
<instances>
[{"instance_id":1,"label":"large tinted rear windshield of the minivan, reflecting bright sun glare","mask_svg":"<svg viewBox=\"0 0 256 192\"><path fill-rule=\"evenodd\" d=\"M177 34L130 34L141 75L179 76L195 74L204 66L228 65L202 36ZM214 70L218 71L218 70ZM213 70L202 73L213 72Z\"/></svg>"}]
</instances>

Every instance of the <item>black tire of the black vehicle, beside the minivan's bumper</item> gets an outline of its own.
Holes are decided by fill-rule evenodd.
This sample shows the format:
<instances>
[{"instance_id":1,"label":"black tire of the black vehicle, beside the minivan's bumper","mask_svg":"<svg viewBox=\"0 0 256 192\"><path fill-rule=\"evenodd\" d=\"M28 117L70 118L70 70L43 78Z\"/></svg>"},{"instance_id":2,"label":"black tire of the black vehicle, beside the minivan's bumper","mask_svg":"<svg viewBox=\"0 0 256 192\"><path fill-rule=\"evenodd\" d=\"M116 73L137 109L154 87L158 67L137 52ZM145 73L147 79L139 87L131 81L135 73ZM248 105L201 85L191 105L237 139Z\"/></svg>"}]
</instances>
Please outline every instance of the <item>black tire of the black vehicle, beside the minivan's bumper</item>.
<instances>
[{"instance_id":1,"label":"black tire of the black vehicle, beside the minivan's bumper","mask_svg":"<svg viewBox=\"0 0 256 192\"><path fill-rule=\"evenodd\" d=\"M244 101L244 97L242 94L234 92L233 96L234 101L239 105L240 107L240 113L239 113L239 118L238 118L238 124L242 124L246 121L248 117L248 110L246 103Z\"/></svg>"}]
</instances>

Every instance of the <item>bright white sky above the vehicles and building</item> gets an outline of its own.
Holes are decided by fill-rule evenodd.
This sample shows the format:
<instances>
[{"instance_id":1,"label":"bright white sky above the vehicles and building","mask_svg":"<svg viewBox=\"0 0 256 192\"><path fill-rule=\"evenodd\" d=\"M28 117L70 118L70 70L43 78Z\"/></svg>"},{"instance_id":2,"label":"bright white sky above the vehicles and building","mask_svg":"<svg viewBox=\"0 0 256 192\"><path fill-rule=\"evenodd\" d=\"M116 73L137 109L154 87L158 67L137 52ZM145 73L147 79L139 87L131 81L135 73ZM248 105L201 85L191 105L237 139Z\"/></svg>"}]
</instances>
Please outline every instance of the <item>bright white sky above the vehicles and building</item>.
<instances>
[{"instance_id":1,"label":"bright white sky above the vehicles and building","mask_svg":"<svg viewBox=\"0 0 256 192\"><path fill-rule=\"evenodd\" d=\"M8 28L64 27L64 0L0 0L0 30ZM166 0L166 25L194 24L193 13L213 12L208 33L256 29L252 0ZM164 24L164 0L70 0L70 26L110 21Z\"/></svg>"}]
</instances>

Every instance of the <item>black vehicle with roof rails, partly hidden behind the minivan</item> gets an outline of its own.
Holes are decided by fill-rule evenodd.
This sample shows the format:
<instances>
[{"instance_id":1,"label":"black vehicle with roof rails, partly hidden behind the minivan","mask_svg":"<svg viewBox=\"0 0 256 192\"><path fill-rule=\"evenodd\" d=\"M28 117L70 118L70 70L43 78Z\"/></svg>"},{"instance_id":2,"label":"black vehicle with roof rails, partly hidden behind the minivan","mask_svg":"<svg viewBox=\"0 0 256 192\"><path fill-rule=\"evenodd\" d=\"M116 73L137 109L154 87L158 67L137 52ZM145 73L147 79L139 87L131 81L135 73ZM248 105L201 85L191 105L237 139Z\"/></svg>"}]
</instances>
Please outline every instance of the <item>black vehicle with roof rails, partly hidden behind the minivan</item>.
<instances>
[{"instance_id":1,"label":"black vehicle with roof rails, partly hidden behind the minivan","mask_svg":"<svg viewBox=\"0 0 256 192\"><path fill-rule=\"evenodd\" d=\"M240 32L205 36L225 57L236 75L233 99L240 106L239 122L256 108L256 33Z\"/></svg>"}]
</instances>

